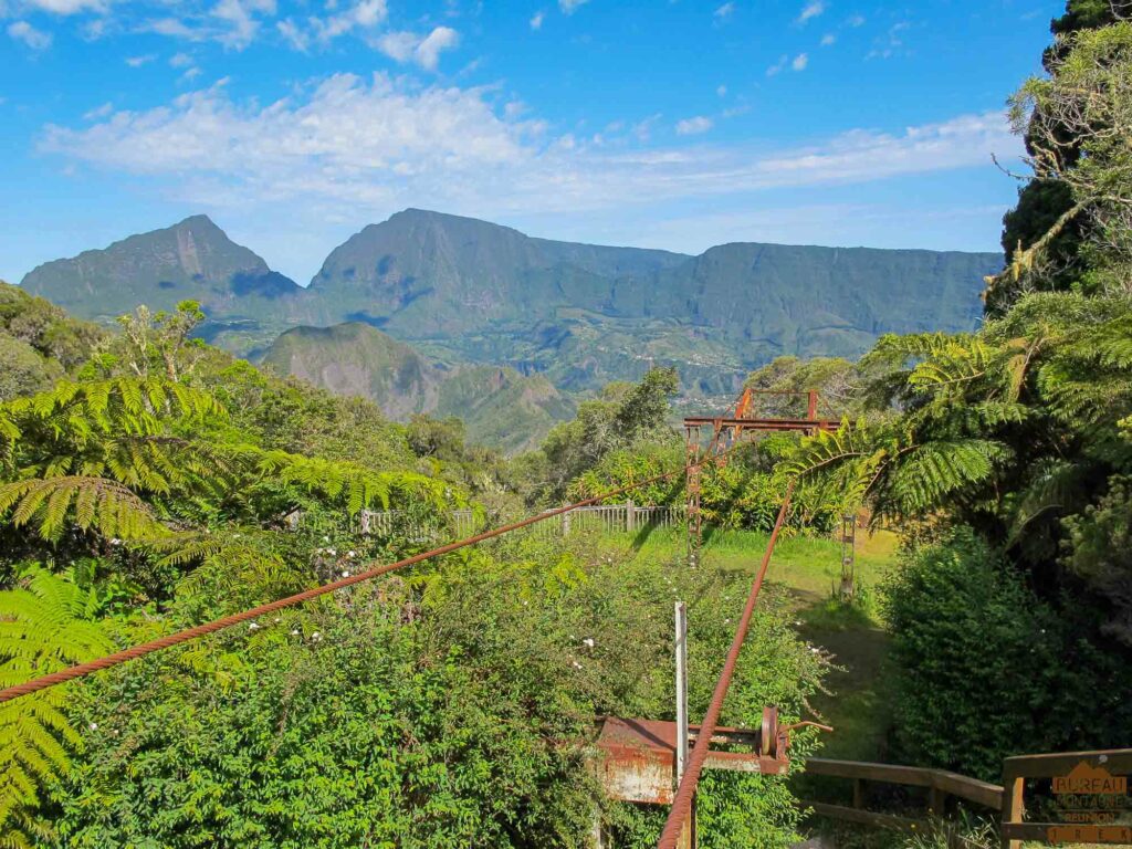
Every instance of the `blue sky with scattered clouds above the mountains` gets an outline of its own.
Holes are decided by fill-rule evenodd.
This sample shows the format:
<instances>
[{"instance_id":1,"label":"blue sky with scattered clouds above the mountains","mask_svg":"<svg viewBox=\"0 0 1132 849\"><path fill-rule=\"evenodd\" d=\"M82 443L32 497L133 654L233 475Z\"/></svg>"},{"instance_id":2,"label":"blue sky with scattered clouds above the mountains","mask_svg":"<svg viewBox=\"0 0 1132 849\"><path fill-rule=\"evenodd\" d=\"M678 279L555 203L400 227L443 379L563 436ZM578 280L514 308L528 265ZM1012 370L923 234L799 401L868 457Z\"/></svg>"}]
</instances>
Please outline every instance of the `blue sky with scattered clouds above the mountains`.
<instances>
[{"instance_id":1,"label":"blue sky with scattered clouds above the mountains","mask_svg":"<svg viewBox=\"0 0 1132 849\"><path fill-rule=\"evenodd\" d=\"M306 283L406 206L994 250L1060 0L0 0L0 277L204 212Z\"/></svg>"}]
</instances>

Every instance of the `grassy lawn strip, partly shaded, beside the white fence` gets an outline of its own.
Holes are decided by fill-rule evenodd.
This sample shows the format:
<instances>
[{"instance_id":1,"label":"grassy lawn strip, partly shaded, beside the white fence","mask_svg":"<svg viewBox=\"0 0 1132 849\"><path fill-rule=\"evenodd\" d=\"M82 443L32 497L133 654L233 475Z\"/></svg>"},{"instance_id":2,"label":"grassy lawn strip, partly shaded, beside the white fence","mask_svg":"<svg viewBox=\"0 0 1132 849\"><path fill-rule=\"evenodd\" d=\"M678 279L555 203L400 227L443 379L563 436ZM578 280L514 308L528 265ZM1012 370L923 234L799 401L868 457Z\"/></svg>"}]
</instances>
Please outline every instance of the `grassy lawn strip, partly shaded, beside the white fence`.
<instances>
[{"instance_id":1,"label":"grassy lawn strip, partly shaded, beside the white fence","mask_svg":"<svg viewBox=\"0 0 1132 849\"><path fill-rule=\"evenodd\" d=\"M624 534L619 538L624 540ZM754 574L767 535L749 531L709 532L703 559L724 569ZM661 529L634 539L636 556L675 558L683 555L683 529ZM884 667L889 635L875 604L876 586L895 560L897 538L858 532L856 574L861 603L834 600L841 576L841 544L827 538L787 537L779 540L766 573L769 586L788 598L798 633L830 653L835 668L826 677L829 693L813 700L820 718L833 726L822 755L855 761L883 761L891 724L890 691ZM827 795L823 794L823 798Z\"/></svg>"}]
</instances>

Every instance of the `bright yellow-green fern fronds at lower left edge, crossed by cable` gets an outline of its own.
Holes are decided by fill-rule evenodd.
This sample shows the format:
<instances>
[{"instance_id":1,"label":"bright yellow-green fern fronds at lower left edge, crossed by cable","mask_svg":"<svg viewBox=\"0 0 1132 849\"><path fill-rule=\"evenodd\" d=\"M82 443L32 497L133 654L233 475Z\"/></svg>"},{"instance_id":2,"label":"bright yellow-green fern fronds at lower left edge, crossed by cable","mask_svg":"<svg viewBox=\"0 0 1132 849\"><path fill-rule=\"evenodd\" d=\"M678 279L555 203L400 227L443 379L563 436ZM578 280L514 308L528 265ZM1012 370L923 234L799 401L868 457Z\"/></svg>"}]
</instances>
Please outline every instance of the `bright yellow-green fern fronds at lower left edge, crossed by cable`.
<instances>
[{"instance_id":1,"label":"bright yellow-green fern fronds at lower left edge, crossed by cable","mask_svg":"<svg viewBox=\"0 0 1132 849\"><path fill-rule=\"evenodd\" d=\"M0 687L22 684L113 651L86 618L86 593L40 567L0 592ZM37 844L34 817L44 784L69 769L82 738L66 717L68 692L52 687L0 704L0 834L9 846ZM3 843L0 843L3 846Z\"/></svg>"}]
</instances>

